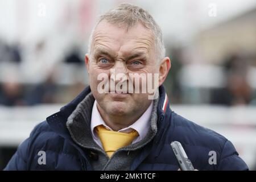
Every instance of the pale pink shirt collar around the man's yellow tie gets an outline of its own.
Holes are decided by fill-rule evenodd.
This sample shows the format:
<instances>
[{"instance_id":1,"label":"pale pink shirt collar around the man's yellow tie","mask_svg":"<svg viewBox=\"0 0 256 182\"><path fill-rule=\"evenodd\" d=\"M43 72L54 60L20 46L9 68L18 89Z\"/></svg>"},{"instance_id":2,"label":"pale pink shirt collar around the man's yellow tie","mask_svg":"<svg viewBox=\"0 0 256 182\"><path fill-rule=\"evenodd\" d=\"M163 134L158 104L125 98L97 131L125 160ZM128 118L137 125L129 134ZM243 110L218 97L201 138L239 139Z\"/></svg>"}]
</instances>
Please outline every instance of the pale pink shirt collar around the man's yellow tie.
<instances>
[{"instance_id":1,"label":"pale pink shirt collar around the man's yellow tie","mask_svg":"<svg viewBox=\"0 0 256 182\"><path fill-rule=\"evenodd\" d=\"M139 142L144 137L146 137L148 130L150 129L150 117L153 109L153 102L151 102L150 106L147 108L147 110L142 114L142 116L134 122L132 125L119 130L118 132L124 132L127 133L131 129L134 129L138 132L139 137L133 140L133 143ZM104 120L101 118L100 113L98 112L97 108L97 101L94 101L93 109L92 109L92 118L90 122L90 130L92 131L92 137L93 140L102 148L101 140L98 137L97 133L94 131L94 128L96 126L103 125L107 129L112 130L109 126L106 125ZM113 130L112 130L113 131Z\"/></svg>"}]
</instances>

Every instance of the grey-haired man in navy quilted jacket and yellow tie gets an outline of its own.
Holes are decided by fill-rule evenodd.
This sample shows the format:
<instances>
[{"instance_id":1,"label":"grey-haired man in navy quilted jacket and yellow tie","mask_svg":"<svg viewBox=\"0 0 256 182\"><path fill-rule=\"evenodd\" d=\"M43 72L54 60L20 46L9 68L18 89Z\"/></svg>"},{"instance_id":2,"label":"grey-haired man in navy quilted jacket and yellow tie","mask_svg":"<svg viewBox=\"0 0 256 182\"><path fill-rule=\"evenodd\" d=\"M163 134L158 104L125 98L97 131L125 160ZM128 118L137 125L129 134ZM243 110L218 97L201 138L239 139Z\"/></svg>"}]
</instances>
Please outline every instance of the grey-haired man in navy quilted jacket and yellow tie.
<instances>
[{"instance_id":1,"label":"grey-haired man in navy quilted jacket and yellow tie","mask_svg":"<svg viewBox=\"0 0 256 182\"><path fill-rule=\"evenodd\" d=\"M140 7L100 17L85 63L90 87L36 126L6 170L177 170L175 140L196 169L248 169L229 140L171 111L162 32Z\"/></svg>"}]
</instances>

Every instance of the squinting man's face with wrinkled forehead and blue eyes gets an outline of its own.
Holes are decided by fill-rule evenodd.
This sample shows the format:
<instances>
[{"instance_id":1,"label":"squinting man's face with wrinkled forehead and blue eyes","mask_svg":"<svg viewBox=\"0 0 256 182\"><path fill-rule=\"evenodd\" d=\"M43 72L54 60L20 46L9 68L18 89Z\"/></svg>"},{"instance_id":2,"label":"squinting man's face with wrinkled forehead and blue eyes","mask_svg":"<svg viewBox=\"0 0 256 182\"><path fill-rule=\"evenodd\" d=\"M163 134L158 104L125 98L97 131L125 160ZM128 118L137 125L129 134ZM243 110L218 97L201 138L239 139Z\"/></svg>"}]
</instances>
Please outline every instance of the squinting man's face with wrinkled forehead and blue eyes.
<instances>
[{"instance_id":1,"label":"squinting man's face with wrinkled forehead and blue eyes","mask_svg":"<svg viewBox=\"0 0 256 182\"><path fill-rule=\"evenodd\" d=\"M133 115L143 113L151 104L148 93L99 93L97 90L101 73L108 75L110 82L118 73L127 76L127 87L131 80L129 73L158 73L154 38L150 30L141 23L129 31L112 23L102 21L96 27L92 39L91 55L86 55L90 88L100 110L112 115ZM110 73L114 69L115 75ZM115 85L120 79L115 77ZM133 86L133 84L131 84Z\"/></svg>"}]
</instances>

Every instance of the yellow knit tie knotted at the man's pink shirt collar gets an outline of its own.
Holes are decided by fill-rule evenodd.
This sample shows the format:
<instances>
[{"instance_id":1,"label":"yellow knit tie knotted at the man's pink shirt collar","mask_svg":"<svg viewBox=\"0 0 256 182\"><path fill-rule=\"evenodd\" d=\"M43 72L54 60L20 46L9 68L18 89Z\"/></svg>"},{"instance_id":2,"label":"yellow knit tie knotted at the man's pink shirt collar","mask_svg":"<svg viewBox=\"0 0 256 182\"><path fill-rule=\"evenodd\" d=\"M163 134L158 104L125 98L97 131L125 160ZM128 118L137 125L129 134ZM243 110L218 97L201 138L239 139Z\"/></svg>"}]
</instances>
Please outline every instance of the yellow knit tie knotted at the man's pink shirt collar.
<instances>
[{"instance_id":1,"label":"yellow knit tie knotted at the man's pink shirt collar","mask_svg":"<svg viewBox=\"0 0 256 182\"><path fill-rule=\"evenodd\" d=\"M138 132L135 130L130 131L129 133L110 131L103 125L96 127L96 133L98 134L98 137L100 137L102 147L109 158L116 150L118 150L118 148L131 144L131 142L139 136Z\"/></svg>"}]
</instances>

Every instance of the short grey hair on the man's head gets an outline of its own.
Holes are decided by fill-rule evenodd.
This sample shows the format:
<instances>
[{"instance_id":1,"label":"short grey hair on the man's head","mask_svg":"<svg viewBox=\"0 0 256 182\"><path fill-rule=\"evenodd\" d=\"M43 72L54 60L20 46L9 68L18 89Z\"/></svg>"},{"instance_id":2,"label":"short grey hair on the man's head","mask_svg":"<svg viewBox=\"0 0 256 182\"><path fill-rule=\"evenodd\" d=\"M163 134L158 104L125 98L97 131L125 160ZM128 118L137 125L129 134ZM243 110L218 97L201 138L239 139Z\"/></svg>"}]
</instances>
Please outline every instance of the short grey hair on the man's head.
<instances>
[{"instance_id":1,"label":"short grey hair on the man's head","mask_svg":"<svg viewBox=\"0 0 256 182\"><path fill-rule=\"evenodd\" d=\"M152 31L155 40L156 54L158 55L157 59L160 61L165 56L166 49L163 43L161 28L158 26L158 24L156 24L155 20L146 10L143 10L141 7L132 5L130 3L122 3L115 9L112 9L100 16L96 26L93 28L93 31L90 34L88 45L89 54L91 53L92 38L95 28L102 20L106 20L107 22L114 24L124 24L127 31L129 28L134 27L138 22L142 23L144 27Z\"/></svg>"}]
</instances>

